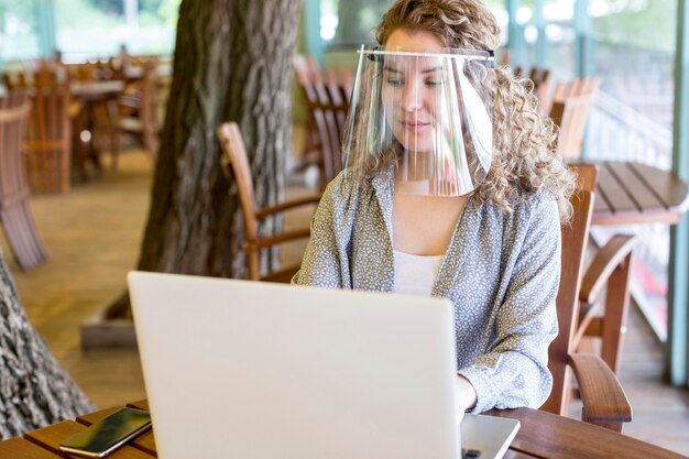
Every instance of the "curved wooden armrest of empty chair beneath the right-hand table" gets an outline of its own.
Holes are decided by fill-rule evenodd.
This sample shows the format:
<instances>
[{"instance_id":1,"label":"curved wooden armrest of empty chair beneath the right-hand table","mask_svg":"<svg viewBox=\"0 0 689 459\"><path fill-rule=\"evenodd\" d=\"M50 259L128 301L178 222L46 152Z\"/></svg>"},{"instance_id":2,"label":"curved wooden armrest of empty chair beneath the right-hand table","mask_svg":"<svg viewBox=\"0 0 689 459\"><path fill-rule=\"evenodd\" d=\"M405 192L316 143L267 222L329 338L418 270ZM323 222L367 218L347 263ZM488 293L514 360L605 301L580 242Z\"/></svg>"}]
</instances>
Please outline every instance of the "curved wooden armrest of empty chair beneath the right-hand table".
<instances>
[{"instance_id":1,"label":"curved wooden armrest of empty chair beneath the right-hand table","mask_svg":"<svg viewBox=\"0 0 689 459\"><path fill-rule=\"evenodd\" d=\"M581 281L579 300L593 304L610 275L638 243L637 236L616 234L595 254Z\"/></svg>"}]
</instances>

